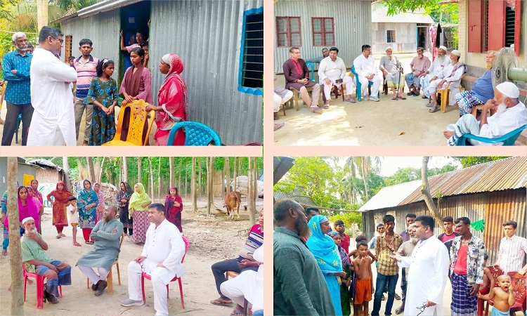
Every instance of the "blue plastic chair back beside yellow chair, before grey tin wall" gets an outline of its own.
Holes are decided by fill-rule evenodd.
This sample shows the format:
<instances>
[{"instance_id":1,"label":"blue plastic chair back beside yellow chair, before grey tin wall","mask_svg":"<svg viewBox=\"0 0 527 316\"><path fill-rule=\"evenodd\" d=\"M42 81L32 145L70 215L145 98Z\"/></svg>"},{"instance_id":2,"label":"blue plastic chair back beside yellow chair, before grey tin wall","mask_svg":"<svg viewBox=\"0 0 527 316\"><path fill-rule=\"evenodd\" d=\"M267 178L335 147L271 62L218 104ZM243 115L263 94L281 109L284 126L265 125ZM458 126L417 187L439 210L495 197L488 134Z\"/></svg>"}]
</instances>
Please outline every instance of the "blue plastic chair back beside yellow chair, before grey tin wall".
<instances>
[{"instance_id":1,"label":"blue plastic chair back beside yellow chair, before grey tin wall","mask_svg":"<svg viewBox=\"0 0 527 316\"><path fill-rule=\"evenodd\" d=\"M209 126L198 123L197 121L181 121L172 126L167 145L171 146L174 144L176 131L183 128L185 128L186 135L185 146L208 146L212 142L216 146L221 146L219 135Z\"/></svg>"}]
</instances>

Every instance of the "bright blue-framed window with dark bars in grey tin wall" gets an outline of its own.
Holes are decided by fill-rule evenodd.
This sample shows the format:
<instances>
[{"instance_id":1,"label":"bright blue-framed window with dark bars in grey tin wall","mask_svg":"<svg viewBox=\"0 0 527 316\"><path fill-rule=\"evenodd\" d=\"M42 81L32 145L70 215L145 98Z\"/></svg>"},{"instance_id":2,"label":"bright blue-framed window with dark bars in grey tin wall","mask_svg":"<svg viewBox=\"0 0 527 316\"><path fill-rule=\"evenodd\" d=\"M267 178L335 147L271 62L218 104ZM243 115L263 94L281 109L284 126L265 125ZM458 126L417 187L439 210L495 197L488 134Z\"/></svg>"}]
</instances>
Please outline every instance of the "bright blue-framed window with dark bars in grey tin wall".
<instances>
[{"instance_id":1,"label":"bright blue-framed window with dark bars in grey tin wall","mask_svg":"<svg viewBox=\"0 0 527 316\"><path fill-rule=\"evenodd\" d=\"M243 15L238 91L262 95L263 88L263 7Z\"/></svg>"}]
</instances>

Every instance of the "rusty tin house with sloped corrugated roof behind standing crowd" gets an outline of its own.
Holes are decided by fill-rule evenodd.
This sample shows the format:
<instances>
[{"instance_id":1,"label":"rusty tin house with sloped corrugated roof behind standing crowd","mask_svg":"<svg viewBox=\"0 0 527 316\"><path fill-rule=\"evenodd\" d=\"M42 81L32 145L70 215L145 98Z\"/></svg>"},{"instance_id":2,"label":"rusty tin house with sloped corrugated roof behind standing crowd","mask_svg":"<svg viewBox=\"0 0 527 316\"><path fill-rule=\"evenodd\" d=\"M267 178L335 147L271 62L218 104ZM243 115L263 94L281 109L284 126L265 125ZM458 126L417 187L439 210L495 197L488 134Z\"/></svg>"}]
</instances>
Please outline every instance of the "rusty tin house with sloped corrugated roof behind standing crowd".
<instances>
[{"instance_id":1,"label":"rusty tin house with sloped corrugated roof behind standing crowd","mask_svg":"<svg viewBox=\"0 0 527 316\"><path fill-rule=\"evenodd\" d=\"M502 224L518 223L516 235L527 237L527 157L512 157L429 177L429 190L443 217L454 220L462 216L471 222L484 220L483 232L471 230L485 242L488 262L497 259L500 240L505 237ZM396 218L395 231L406 229L405 215L430 215L421 194L422 180L384 187L358 211L363 212L363 231L367 238L375 234L375 225L382 216ZM436 223L435 235L441 234L443 223Z\"/></svg>"}]
</instances>

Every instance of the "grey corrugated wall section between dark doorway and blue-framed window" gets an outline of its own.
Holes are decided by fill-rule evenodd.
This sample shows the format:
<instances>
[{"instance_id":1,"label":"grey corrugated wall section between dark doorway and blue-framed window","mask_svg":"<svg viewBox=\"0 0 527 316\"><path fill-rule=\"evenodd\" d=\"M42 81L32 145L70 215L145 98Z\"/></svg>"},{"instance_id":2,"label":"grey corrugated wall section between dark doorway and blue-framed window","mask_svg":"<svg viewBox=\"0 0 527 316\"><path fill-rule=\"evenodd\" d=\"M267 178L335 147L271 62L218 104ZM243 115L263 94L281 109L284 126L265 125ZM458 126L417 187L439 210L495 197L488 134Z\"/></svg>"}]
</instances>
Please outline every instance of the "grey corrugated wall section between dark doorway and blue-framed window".
<instances>
[{"instance_id":1,"label":"grey corrugated wall section between dark doorway and blue-framed window","mask_svg":"<svg viewBox=\"0 0 527 316\"><path fill-rule=\"evenodd\" d=\"M164 79L157 70L162 56L178 54L190 120L210 126L226 145L263 142L262 97L238 91L243 13L261 6L263 0L152 1L152 91Z\"/></svg>"}]
</instances>

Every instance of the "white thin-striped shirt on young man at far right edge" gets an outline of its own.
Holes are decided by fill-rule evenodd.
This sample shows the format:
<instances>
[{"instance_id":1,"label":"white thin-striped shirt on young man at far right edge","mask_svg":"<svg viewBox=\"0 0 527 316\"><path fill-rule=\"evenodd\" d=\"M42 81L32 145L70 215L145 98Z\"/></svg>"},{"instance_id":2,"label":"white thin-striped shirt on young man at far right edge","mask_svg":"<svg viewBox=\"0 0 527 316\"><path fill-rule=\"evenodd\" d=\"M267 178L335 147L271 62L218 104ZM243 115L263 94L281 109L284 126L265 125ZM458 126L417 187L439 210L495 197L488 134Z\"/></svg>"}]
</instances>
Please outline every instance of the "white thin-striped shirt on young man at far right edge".
<instances>
[{"instance_id":1,"label":"white thin-striped shirt on young man at far right edge","mask_svg":"<svg viewBox=\"0 0 527 316\"><path fill-rule=\"evenodd\" d=\"M511 239L503 237L500 242L501 261L498 263L504 274L521 269L521 263L527 256L527 239L513 235Z\"/></svg>"}]
</instances>

